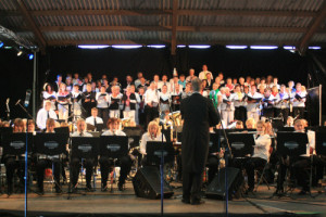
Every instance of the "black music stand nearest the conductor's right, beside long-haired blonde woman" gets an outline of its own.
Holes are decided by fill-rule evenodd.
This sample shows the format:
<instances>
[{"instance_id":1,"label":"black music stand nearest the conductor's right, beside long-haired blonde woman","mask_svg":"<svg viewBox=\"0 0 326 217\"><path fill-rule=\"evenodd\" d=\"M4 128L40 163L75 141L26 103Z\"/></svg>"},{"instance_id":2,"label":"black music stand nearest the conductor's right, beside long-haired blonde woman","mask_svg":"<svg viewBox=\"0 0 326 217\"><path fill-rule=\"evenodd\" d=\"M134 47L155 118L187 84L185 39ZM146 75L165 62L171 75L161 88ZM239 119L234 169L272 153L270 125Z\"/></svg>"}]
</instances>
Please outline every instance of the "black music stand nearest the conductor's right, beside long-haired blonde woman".
<instances>
[{"instance_id":1,"label":"black music stand nearest the conductor's right, beside long-haired blonde woman","mask_svg":"<svg viewBox=\"0 0 326 217\"><path fill-rule=\"evenodd\" d=\"M252 133L247 132L229 132L228 140L235 157L244 157L252 154L254 139Z\"/></svg>"}]
</instances>

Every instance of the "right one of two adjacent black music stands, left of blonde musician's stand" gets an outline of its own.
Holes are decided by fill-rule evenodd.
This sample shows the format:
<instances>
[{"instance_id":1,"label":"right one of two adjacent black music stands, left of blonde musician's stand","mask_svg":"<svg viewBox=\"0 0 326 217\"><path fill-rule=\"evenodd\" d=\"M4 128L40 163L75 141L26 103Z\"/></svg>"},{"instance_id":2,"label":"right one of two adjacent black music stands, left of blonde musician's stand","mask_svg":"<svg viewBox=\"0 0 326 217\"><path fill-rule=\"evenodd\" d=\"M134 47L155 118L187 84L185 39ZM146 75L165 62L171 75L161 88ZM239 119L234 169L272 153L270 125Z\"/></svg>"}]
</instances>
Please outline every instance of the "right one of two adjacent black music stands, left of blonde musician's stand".
<instances>
[{"instance_id":1,"label":"right one of two adjacent black music stands, left of blonde musician's stand","mask_svg":"<svg viewBox=\"0 0 326 217\"><path fill-rule=\"evenodd\" d=\"M123 156L128 155L128 137L125 136L101 136L100 137L100 156L113 158L114 177L115 162ZM113 192L113 182L111 182L111 192Z\"/></svg>"}]
</instances>

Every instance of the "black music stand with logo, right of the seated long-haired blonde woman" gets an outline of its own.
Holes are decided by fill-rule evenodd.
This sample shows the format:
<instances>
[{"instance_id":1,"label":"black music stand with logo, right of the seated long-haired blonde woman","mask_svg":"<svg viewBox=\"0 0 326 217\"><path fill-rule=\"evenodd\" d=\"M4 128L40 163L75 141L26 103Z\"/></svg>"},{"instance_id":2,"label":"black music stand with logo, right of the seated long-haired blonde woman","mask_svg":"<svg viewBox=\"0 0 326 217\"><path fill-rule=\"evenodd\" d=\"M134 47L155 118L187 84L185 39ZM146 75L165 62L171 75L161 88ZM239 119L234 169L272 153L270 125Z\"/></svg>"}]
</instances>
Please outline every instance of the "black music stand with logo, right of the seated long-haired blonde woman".
<instances>
[{"instance_id":1,"label":"black music stand with logo, right of the seated long-haired blonde woman","mask_svg":"<svg viewBox=\"0 0 326 217\"><path fill-rule=\"evenodd\" d=\"M305 132L277 132L277 153L281 156L299 156L306 153Z\"/></svg>"}]
</instances>

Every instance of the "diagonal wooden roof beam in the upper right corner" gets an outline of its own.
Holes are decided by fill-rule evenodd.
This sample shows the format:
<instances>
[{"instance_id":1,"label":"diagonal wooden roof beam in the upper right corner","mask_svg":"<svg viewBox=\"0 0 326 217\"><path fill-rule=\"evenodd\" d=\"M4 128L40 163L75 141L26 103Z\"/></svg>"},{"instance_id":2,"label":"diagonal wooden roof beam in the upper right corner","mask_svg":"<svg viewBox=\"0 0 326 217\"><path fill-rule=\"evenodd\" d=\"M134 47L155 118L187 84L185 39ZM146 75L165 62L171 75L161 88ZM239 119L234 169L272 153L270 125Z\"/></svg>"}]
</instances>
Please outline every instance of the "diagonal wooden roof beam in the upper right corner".
<instances>
[{"instance_id":1,"label":"diagonal wooden roof beam in the upper right corner","mask_svg":"<svg viewBox=\"0 0 326 217\"><path fill-rule=\"evenodd\" d=\"M302 37L299 50L301 53L304 53L310 39L314 36L314 34L319 29L322 23L325 21L326 17L326 1L324 1L322 10L318 12L317 17L312 22L311 26L309 27L306 34Z\"/></svg>"}]
</instances>

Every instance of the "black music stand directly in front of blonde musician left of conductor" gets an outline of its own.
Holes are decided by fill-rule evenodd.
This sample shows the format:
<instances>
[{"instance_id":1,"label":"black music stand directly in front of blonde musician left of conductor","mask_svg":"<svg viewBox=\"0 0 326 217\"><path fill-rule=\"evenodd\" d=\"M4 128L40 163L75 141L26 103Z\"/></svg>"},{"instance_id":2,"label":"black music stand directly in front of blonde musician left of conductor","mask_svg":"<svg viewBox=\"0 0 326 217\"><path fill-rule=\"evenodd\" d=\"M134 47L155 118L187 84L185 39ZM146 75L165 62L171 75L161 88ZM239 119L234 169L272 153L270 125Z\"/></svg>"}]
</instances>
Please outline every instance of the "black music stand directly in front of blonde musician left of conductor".
<instances>
[{"instance_id":1,"label":"black music stand directly in front of blonde musician left of conductor","mask_svg":"<svg viewBox=\"0 0 326 217\"><path fill-rule=\"evenodd\" d=\"M160 165L163 152L164 163L174 161L174 148L171 142L150 141L146 144L147 161L151 165Z\"/></svg>"}]
</instances>

